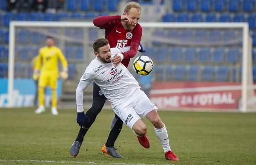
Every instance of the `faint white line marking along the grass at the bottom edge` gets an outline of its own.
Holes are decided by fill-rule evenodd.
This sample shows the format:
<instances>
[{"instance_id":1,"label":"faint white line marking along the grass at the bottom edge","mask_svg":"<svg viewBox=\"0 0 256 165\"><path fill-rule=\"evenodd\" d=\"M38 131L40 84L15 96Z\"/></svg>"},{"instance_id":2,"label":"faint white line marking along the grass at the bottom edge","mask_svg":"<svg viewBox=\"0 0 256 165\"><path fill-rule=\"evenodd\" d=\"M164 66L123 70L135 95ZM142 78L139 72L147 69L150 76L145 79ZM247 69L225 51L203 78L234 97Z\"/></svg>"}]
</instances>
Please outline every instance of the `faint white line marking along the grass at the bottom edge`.
<instances>
[{"instance_id":1,"label":"faint white line marking along the grass at the bottom edge","mask_svg":"<svg viewBox=\"0 0 256 165\"><path fill-rule=\"evenodd\" d=\"M54 161L54 160L6 160L0 159L0 161L6 162L45 162L45 163L74 163L74 164L97 164L96 162L83 162L83 161ZM102 163L101 163L102 164ZM107 163L108 165L145 165L140 163ZM155 164L147 164L147 165L155 165Z\"/></svg>"}]
</instances>

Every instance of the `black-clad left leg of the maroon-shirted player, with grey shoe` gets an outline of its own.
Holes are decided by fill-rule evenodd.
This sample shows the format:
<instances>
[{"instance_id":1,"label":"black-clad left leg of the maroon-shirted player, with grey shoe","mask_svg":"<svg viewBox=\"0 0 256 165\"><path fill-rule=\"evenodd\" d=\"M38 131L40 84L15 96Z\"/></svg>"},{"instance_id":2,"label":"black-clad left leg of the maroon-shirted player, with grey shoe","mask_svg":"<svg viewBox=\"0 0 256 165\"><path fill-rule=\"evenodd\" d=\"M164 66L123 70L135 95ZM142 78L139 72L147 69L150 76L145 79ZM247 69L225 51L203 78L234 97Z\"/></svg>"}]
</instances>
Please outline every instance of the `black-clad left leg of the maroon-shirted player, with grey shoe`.
<instances>
[{"instance_id":1,"label":"black-clad left leg of the maroon-shirted player, with grey shoe","mask_svg":"<svg viewBox=\"0 0 256 165\"><path fill-rule=\"evenodd\" d=\"M80 127L79 133L75 139L75 142L72 144L69 152L72 156L77 156L84 141L85 134L87 133L88 129L94 123L97 115L101 112L107 98L103 95L101 89L95 82L93 82L93 102L91 108L86 112L90 123L87 128L83 129Z\"/></svg>"}]
</instances>

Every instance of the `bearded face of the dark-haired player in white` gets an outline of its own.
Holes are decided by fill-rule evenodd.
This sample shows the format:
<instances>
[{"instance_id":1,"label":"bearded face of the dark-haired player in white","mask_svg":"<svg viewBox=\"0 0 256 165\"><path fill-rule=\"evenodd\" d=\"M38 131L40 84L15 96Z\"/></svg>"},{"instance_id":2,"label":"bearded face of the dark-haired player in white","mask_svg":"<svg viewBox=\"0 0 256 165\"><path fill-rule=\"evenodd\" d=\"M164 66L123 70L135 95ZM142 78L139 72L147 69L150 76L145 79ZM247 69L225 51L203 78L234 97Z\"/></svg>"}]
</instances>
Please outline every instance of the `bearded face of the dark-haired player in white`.
<instances>
[{"instance_id":1,"label":"bearded face of the dark-haired player in white","mask_svg":"<svg viewBox=\"0 0 256 165\"><path fill-rule=\"evenodd\" d=\"M94 52L94 54L98 57L98 60L103 63L110 63L111 62L111 52L109 44L100 47L99 53Z\"/></svg>"}]
</instances>

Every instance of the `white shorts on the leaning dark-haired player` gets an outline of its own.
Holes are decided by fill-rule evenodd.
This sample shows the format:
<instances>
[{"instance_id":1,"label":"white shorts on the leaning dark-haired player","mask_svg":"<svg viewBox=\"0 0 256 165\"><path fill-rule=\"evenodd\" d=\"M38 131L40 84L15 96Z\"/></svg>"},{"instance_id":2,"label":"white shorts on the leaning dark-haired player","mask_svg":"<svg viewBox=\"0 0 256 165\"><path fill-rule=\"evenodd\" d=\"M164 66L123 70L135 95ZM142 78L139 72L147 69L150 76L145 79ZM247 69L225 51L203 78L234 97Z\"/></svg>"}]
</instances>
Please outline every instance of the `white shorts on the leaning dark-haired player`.
<instances>
[{"instance_id":1,"label":"white shorts on the leaning dark-haired player","mask_svg":"<svg viewBox=\"0 0 256 165\"><path fill-rule=\"evenodd\" d=\"M133 124L140 119L139 116L145 118L147 113L158 109L140 89L137 89L124 103L112 104L112 108L123 123L131 129Z\"/></svg>"}]
</instances>

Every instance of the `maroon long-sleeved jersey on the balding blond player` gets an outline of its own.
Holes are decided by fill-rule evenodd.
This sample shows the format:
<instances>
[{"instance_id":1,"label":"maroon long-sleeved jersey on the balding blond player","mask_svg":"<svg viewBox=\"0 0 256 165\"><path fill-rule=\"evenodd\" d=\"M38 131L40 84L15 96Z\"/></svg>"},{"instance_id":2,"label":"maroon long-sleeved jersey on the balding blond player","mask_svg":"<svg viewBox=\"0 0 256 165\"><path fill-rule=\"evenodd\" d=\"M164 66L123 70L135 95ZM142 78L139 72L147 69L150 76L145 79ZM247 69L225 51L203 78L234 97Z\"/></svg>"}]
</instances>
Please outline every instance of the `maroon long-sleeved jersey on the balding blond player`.
<instances>
[{"instance_id":1,"label":"maroon long-sleeved jersey on the balding blond player","mask_svg":"<svg viewBox=\"0 0 256 165\"><path fill-rule=\"evenodd\" d=\"M135 57L138 52L139 43L142 36L142 27L137 23L133 31L125 30L122 26L121 15L98 16L93 20L93 24L101 29L105 29L105 37L109 41L110 47L131 46L128 52L123 52L122 63L128 67L130 58Z\"/></svg>"}]
</instances>

